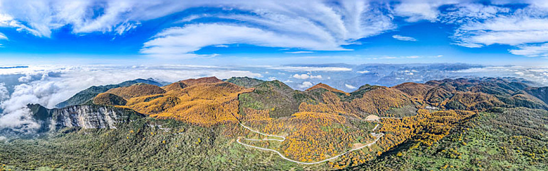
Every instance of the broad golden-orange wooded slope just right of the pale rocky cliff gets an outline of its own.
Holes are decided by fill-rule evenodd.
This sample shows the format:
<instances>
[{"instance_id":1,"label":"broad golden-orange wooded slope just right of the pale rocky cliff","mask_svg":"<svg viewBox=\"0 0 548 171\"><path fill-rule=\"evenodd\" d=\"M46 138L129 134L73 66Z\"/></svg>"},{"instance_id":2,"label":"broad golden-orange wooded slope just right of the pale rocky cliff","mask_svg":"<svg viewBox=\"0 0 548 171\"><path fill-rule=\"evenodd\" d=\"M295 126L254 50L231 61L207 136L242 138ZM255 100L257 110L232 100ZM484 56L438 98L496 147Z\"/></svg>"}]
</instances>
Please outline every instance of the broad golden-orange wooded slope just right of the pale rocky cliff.
<instances>
[{"instance_id":1,"label":"broad golden-orange wooded slope just right of the pale rocky cliff","mask_svg":"<svg viewBox=\"0 0 548 171\"><path fill-rule=\"evenodd\" d=\"M181 84L185 86L180 86ZM163 93L155 94L139 93L147 90L135 92L136 94L124 91L122 95L130 99L127 105L118 107L134 109L150 117L176 119L203 126L237 123L237 119L241 118L238 114L238 95L253 90L220 81L215 77L180 81L164 88L169 91L162 89ZM121 90L112 92L118 91Z\"/></svg>"}]
</instances>

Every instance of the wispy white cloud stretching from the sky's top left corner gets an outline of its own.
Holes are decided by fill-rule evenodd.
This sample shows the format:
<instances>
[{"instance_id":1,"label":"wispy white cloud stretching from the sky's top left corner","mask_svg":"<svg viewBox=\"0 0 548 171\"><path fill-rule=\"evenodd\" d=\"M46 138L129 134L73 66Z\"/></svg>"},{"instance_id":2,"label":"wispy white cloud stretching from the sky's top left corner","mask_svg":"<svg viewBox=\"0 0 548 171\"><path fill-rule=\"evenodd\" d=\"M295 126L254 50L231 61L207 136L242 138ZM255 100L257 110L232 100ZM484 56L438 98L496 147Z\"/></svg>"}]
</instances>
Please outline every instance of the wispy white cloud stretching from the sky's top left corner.
<instances>
[{"instance_id":1,"label":"wispy white cloud stretching from the sky's top left corner","mask_svg":"<svg viewBox=\"0 0 548 171\"><path fill-rule=\"evenodd\" d=\"M49 37L70 25L73 33L123 34L140 21L156 19L209 2L191 1L0 1L0 26ZM97 10L101 9L101 10ZM24 24L23 24L24 23Z\"/></svg>"}]
</instances>

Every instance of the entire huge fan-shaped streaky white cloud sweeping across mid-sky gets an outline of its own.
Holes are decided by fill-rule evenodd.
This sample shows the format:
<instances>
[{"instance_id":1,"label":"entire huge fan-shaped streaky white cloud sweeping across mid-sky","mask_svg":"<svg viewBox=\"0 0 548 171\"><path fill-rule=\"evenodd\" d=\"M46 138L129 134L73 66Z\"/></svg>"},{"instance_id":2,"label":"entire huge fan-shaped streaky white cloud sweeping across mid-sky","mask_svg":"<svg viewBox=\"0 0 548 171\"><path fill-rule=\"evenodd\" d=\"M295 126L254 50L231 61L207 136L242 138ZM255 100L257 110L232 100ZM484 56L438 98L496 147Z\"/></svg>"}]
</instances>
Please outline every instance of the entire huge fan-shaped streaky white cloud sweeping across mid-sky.
<instances>
[{"instance_id":1,"label":"entire huge fan-shaped streaky white cloud sweeping across mid-sky","mask_svg":"<svg viewBox=\"0 0 548 171\"><path fill-rule=\"evenodd\" d=\"M395 28L392 17L381 9L383 6L370 7L362 1L236 1L229 6L254 15L215 15L239 22L206 22L165 29L146 42L141 53L155 57L182 54L179 57L188 58L193 57L188 54L205 46L237 43L341 51L347 50L341 45ZM204 35L208 37L206 40L189 39L203 39Z\"/></svg>"}]
</instances>

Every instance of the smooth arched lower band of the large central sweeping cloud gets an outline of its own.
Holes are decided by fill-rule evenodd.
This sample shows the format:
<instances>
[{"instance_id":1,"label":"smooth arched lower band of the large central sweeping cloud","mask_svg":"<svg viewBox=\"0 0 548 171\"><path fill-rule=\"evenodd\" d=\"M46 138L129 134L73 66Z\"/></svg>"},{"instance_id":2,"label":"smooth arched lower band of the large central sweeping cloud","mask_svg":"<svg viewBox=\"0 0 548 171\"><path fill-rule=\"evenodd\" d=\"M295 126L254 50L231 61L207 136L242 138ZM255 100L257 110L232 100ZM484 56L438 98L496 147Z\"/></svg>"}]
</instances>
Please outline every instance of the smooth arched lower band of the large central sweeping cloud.
<instances>
[{"instance_id":1,"label":"smooth arched lower band of the large central sweeping cloud","mask_svg":"<svg viewBox=\"0 0 548 171\"><path fill-rule=\"evenodd\" d=\"M158 33L154 39L145 42L141 53L155 57L180 54L186 56L205 46L234 43L268 47L298 47L311 50L343 50L338 45L326 44L313 39L300 39L259 28L214 23L165 29Z\"/></svg>"}]
</instances>

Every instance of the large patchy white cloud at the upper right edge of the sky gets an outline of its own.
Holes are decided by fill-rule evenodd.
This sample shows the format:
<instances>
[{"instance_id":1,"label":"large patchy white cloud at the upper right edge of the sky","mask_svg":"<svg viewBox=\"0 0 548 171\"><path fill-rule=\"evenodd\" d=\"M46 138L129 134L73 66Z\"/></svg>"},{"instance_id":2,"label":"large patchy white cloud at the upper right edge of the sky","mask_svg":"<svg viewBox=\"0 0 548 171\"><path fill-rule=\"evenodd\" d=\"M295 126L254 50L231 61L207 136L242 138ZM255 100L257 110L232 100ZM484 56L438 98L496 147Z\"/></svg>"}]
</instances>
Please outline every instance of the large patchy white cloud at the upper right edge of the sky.
<instances>
[{"instance_id":1,"label":"large patchy white cloud at the upper right edge of the sky","mask_svg":"<svg viewBox=\"0 0 548 171\"><path fill-rule=\"evenodd\" d=\"M452 38L456 45L484 47L493 44L516 46L510 53L542 57L548 42L548 8L529 5L510 10L493 5L458 5L442 20L458 23Z\"/></svg>"}]
</instances>

